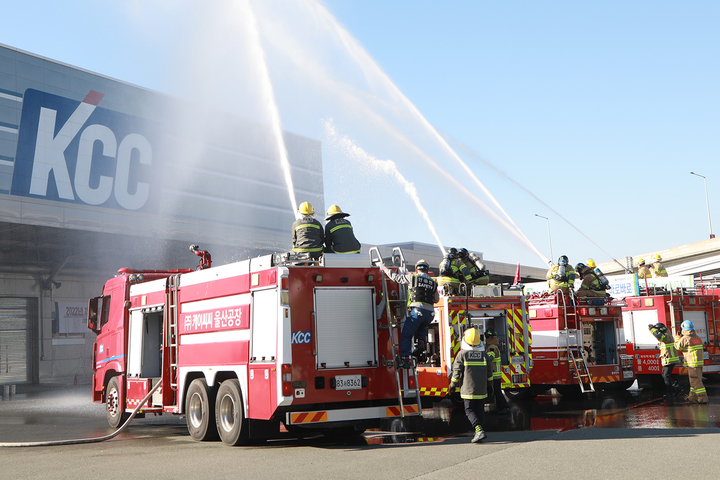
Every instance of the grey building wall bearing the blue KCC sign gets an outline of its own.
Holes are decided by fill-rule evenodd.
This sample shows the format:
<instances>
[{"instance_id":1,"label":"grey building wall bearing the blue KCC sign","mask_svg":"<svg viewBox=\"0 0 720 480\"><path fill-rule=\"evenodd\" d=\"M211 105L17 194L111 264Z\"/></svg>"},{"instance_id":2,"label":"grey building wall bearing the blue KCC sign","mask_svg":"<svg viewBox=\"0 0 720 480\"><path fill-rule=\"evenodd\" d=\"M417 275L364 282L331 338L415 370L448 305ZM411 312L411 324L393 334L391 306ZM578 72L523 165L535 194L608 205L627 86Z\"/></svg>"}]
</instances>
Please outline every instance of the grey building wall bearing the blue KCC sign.
<instances>
[{"instance_id":1,"label":"grey building wall bearing the blue KCC sign","mask_svg":"<svg viewBox=\"0 0 720 480\"><path fill-rule=\"evenodd\" d=\"M0 297L37 305L26 381L90 382L94 334L63 315L117 269L195 267L190 244L216 264L291 247L275 139L241 115L0 45ZM284 140L297 201L324 211L320 142Z\"/></svg>"}]
</instances>

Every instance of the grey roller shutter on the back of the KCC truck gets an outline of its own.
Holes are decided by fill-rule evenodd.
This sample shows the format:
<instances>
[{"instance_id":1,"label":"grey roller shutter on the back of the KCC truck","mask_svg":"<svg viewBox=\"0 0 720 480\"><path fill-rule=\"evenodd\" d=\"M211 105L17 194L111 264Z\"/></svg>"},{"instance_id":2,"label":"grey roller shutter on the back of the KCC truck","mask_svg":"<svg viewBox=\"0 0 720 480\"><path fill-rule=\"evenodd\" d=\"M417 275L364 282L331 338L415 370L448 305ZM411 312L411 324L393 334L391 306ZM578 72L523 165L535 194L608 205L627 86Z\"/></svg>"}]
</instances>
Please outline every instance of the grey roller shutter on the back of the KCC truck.
<instances>
[{"instance_id":1,"label":"grey roller shutter on the back of the KCC truck","mask_svg":"<svg viewBox=\"0 0 720 480\"><path fill-rule=\"evenodd\" d=\"M317 368L376 367L375 289L315 288Z\"/></svg>"}]
</instances>

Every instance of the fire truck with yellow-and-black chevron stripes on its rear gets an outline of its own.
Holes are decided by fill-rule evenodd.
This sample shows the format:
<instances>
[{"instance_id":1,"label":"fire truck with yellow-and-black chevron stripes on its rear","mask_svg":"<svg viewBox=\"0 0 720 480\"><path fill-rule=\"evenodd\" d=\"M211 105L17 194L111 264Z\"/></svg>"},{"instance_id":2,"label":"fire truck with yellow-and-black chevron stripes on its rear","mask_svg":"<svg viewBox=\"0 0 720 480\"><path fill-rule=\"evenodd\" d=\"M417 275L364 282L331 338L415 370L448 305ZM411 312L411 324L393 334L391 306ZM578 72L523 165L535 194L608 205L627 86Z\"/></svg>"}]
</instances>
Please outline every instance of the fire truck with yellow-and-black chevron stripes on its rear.
<instances>
[{"instance_id":1,"label":"fire truck with yellow-and-black chevron stripes on its rear","mask_svg":"<svg viewBox=\"0 0 720 480\"><path fill-rule=\"evenodd\" d=\"M448 392L449 375L460 352L465 329L495 329L500 341L502 388L520 397L530 387L532 368L527 302L522 290L502 285L473 286L469 295L441 295L435 320L428 330L428 354L418 364L420 394L441 399Z\"/></svg>"}]
</instances>

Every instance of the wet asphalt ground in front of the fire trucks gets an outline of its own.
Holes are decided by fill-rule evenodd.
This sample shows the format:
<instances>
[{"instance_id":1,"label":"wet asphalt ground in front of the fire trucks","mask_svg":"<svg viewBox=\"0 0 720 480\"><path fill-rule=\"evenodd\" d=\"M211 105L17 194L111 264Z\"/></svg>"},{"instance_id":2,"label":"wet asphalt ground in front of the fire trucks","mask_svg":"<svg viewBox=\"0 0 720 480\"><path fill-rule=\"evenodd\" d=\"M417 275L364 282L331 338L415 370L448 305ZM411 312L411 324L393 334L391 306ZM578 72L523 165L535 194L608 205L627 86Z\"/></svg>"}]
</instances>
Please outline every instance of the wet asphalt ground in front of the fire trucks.
<instances>
[{"instance_id":1,"label":"wet asphalt ground in front of the fire trucks","mask_svg":"<svg viewBox=\"0 0 720 480\"><path fill-rule=\"evenodd\" d=\"M227 447L194 442L184 417L137 419L101 443L0 448L0 478L720 478L720 383L708 405L668 404L660 392L628 390L568 400L513 401L486 415L487 439L449 400L407 425L388 422L361 437L286 437ZM0 442L101 437L113 430L89 388L24 392L0 401ZM493 473L491 473L493 472Z\"/></svg>"}]
</instances>

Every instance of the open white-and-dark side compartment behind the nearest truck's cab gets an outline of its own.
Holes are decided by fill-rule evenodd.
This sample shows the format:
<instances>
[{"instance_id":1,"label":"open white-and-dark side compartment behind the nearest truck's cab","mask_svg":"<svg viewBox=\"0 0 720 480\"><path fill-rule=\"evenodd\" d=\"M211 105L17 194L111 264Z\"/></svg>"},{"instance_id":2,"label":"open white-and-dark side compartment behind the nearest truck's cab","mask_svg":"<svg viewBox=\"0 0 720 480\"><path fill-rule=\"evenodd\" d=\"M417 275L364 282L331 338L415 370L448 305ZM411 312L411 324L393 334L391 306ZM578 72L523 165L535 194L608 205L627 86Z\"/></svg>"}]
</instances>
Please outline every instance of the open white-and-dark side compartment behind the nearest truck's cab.
<instances>
[{"instance_id":1,"label":"open white-and-dark side compartment behind the nearest truck's cab","mask_svg":"<svg viewBox=\"0 0 720 480\"><path fill-rule=\"evenodd\" d=\"M162 310L130 312L127 373L130 377L151 378L161 375Z\"/></svg>"}]
</instances>

